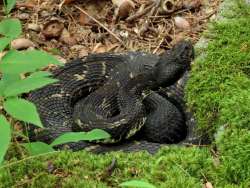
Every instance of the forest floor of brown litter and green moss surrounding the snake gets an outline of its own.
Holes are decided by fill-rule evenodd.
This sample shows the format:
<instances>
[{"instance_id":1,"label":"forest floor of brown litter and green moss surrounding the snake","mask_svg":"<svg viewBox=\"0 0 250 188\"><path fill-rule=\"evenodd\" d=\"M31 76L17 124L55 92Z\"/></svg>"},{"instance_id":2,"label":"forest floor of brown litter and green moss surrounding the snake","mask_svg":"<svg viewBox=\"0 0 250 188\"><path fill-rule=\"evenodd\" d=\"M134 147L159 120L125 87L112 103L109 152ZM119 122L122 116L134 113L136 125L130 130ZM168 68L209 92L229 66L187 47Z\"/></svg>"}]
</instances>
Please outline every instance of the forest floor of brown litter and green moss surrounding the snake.
<instances>
[{"instance_id":1,"label":"forest floor of brown litter and green moss surrounding the snake","mask_svg":"<svg viewBox=\"0 0 250 188\"><path fill-rule=\"evenodd\" d=\"M30 48L46 50L65 62L106 51L159 54L181 39L198 42L186 99L198 131L206 132L213 143L167 146L153 156L64 151L20 159L10 151L9 162L0 167L0 187L118 187L131 179L162 188L250 187L247 1L224 0L218 9L218 0L202 1L201 6L192 0L197 4L167 4L170 12L164 13L162 5L140 0L127 7L128 13L125 9L123 19L121 7L111 1L68 2L17 4L12 16L22 20ZM117 164L110 171L114 159Z\"/></svg>"}]
</instances>

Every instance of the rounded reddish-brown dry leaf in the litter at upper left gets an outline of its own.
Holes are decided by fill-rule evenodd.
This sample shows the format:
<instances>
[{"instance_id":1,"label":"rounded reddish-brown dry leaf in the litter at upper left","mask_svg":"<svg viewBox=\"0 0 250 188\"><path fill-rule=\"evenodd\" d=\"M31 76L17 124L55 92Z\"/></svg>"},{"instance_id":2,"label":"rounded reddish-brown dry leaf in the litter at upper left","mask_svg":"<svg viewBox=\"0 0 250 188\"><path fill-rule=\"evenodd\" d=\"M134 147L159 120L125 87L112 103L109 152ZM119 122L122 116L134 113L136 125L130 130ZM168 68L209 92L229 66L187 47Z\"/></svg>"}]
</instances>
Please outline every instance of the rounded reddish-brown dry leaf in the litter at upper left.
<instances>
[{"instance_id":1,"label":"rounded reddish-brown dry leaf in the litter at upper left","mask_svg":"<svg viewBox=\"0 0 250 188\"><path fill-rule=\"evenodd\" d=\"M46 39L59 38L62 34L63 29L63 23L58 20L51 20L44 25L42 34Z\"/></svg>"}]
</instances>

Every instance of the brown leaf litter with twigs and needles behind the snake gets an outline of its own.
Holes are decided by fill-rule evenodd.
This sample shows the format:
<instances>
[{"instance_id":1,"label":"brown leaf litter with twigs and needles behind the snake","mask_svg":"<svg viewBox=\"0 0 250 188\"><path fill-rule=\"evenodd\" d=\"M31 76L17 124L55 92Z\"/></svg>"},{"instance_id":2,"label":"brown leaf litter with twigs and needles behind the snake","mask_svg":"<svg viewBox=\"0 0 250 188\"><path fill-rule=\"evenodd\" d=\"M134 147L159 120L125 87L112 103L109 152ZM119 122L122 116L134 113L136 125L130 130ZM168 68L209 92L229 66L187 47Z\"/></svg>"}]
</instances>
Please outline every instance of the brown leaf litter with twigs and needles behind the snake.
<instances>
[{"instance_id":1,"label":"brown leaf litter with twigs and needles behind the snake","mask_svg":"<svg viewBox=\"0 0 250 188\"><path fill-rule=\"evenodd\" d=\"M220 0L26 0L11 17L23 24L17 49L38 48L61 61L89 53L162 53L181 39L196 42ZM1 6L1 5L0 5ZM0 19L3 18L0 12ZM24 43L24 44L23 44Z\"/></svg>"}]
</instances>

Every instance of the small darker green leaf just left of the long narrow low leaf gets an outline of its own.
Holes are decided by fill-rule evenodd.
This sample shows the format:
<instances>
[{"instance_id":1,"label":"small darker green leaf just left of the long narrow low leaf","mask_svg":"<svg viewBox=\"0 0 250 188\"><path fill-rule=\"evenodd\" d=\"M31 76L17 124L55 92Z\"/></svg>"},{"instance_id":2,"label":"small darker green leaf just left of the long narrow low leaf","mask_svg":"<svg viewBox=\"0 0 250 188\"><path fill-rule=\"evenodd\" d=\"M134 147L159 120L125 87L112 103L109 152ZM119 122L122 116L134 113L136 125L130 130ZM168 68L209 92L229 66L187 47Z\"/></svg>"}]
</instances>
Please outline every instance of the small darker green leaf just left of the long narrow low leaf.
<instances>
[{"instance_id":1,"label":"small darker green leaf just left of the long narrow low leaf","mask_svg":"<svg viewBox=\"0 0 250 188\"><path fill-rule=\"evenodd\" d=\"M31 142L22 144L30 155L39 155L55 151L50 145L43 142Z\"/></svg>"}]
</instances>

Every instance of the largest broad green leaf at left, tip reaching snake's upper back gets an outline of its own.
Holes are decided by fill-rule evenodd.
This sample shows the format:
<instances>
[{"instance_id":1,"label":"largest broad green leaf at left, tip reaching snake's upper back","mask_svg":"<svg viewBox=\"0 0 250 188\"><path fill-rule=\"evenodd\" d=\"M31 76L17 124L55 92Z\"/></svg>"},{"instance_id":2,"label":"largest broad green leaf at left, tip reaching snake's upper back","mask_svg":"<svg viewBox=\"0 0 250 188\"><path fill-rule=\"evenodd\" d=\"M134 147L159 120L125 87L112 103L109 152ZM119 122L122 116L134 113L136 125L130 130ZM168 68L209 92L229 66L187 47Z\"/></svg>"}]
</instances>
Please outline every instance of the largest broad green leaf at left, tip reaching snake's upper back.
<instances>
[{"instance_id":1,"label":"largest broad green leaf at left, tip reaching snake's upper back","mask_svg":"<svg viewBox=\"0 0 250 188\"><path fill-rule=\"evenodd\" d=\"M0 70L3 73L20 74L34 72L40 68L46 67L49 64L62 65L55 57L43 51L29 50L19 52L10 50L2 58Z\"/></svg>"}]
</instances>

